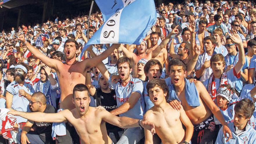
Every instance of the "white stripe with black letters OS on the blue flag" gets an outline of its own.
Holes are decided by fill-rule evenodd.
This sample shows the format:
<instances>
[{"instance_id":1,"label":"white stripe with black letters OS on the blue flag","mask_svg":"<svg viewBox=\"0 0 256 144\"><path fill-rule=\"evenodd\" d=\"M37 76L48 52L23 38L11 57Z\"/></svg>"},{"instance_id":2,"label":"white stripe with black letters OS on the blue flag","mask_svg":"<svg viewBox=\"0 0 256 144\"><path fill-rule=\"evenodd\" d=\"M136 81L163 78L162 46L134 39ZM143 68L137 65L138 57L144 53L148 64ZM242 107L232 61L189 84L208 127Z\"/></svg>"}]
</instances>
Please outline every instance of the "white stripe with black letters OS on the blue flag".
<instances>
[{"instance_id":1,"label":"white stripe with black letters OS on the blue flag","mask_svg":"<svg viewBox=\"0 0 256 144\"><path fill-rule=\"evenodd\" d=\"M103 25L102 31L100 33L100 43L108 43L109 40L113 43L118 43L119 40L119 26L120 17L123 9L112 15Z\"/></svg>"}]
</instances>

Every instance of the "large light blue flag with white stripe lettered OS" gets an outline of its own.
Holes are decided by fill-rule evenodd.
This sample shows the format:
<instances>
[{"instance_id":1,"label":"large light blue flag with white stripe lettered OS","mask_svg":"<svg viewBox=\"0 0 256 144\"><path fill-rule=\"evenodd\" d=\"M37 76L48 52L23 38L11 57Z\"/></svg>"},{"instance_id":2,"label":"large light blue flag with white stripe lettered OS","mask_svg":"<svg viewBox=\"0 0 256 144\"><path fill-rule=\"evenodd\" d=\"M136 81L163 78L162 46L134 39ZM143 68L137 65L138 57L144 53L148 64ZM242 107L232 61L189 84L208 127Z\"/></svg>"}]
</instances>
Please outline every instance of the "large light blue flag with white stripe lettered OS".
<instances>
[{"instance_id":1,"label":"large light blue flag with white stripe lettered OS","mask_svg":"<svg viewBox=\"0 0 256 144\"><path fill-rule=\"evenodd\" d=\"M82 54L93 44L139 45L156 19L154 0L136 0L106 20L83 47Z\"/></svg>"}]
</instances>

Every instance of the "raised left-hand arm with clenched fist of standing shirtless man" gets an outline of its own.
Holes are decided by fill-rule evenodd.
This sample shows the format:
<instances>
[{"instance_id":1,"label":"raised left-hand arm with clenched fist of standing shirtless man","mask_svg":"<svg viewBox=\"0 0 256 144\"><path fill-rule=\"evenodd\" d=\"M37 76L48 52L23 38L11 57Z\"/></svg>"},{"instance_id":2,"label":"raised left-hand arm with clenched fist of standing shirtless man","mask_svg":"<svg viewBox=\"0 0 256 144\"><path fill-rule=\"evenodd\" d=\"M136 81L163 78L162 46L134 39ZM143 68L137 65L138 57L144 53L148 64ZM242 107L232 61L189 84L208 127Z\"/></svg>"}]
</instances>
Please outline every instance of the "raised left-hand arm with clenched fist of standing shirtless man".
<instances>
[{"instance_id":1,"label":"raised left-hand arm with clenched fist of standing shirtless man","mask_svg":"<svg viewBox=\"0 0 256 144\"><path fill-rule=\"evenodd\" d=\"M28 50L37 58L39 58L43 63L45 63L47 66L57 70L57 65L61 64L60 61L53 59L53 58L49 58L47 56L45 56L44 54L42 54L38 49L36 49L35 47L33 47L29 42L27 42L24 38L24 35L19 35L18 40L20 40L21 42L23 42L26 47L28 48Z\"/></svg>"}]
</instances>

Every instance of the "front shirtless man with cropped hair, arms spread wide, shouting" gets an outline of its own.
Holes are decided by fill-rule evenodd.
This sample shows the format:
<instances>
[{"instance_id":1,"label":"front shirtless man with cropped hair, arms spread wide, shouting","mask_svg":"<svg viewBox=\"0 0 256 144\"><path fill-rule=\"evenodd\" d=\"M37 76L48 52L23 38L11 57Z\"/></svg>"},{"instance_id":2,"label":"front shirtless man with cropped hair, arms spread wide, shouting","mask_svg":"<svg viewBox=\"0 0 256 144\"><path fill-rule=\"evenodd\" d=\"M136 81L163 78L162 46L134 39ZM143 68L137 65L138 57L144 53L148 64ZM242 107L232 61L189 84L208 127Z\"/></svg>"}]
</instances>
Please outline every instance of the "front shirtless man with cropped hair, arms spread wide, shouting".
<instances>
[{"instance_id":1,"label":"front shirtless man with cropped hair, arms spread wide, shouting","mask_svg":"<svg viewBox=\"0 0 256 144\"><path fill-rule=\"evenodd\" d=\"M152 132L154 132L154 125L149 125L148 122L141 122L138 119L117 117L106 110L90 107L90 100L88 88L84 84L77 84L73 89L72 103L75 108L72 110L66 109L59 113L25 113L10 109L8 114L19 115L35 122L68 121L75 127L82 144L111 144L112 141L107 135L105 122L122 128L143 125L145 129L152 128Z\"/></svg>"}]
</instances>

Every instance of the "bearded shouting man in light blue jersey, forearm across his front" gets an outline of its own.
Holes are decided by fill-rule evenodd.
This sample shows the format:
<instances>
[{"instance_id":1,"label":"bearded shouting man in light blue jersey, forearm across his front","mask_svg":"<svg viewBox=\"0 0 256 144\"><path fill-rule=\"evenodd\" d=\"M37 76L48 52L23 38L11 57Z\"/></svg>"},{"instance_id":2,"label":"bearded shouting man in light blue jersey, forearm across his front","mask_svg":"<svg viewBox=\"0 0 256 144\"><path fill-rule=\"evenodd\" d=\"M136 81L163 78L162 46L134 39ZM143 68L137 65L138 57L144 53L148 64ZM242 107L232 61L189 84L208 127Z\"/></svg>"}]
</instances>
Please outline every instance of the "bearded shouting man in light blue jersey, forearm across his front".
<instances>
[{"instance_id":1,"label":"bearded shouting man in light blue jersey, forearm across his front","mask_svg":"<svg viewBox=\"0 0 256 144\"><path fill-rule=\"evenodd\" d=\"M117 109L110 113L113 115L127 116L129 118L142 119L145 102L142 97L143 83L138 78L131 77L132 61L127 57L121 57L117 63L119 80L117 83L111 81L114 74L110 74L105 65L101 62L97 67L109 80L109 84L115 89ZM140 127L128 128L121 136L117 144L137 143L144 136L144 131Z\"/></svg>"}]
</instances>

